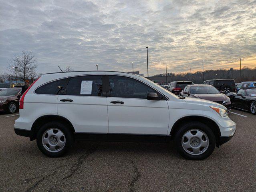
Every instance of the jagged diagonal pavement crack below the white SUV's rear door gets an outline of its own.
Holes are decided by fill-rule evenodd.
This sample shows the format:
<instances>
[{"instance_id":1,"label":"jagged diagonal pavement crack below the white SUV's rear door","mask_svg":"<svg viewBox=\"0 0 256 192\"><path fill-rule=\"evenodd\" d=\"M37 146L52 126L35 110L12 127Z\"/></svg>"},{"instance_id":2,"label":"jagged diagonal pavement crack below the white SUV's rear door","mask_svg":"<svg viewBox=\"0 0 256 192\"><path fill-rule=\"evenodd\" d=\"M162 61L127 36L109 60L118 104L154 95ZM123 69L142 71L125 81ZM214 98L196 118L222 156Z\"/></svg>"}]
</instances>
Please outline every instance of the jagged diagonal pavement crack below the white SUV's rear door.
<instances>
[{"instance_id":1,"label":"jagged diagonal pavement crack below the white SUV's rear door","mask_svg":"<svg viewBox=\"0 0 256 192\"><path fill-rule=\"evenodd\" d=\"M86 159L89 155L91 155L93 152L95 152L96 149L97 149L97 146L94 146L94 145L93 145L93 146L92 146L91 148L89 148L89 150L87 150L83 155L79 156L79 158L77 158L77 162L75 162L74 164L72 164L72 166L71 166L71 168L70 168L70 170L69 170L70 173L69 173L67 176L63 177L61 180L65 180L65 179L67 179L67 178L72 177L72 176L75 175L75 174L81 173L81 171L80 171L80 172L78 172L78 171L80 170L80 168L81 168L83 162L85 161L85 159Z\"/></svg>"}]
</instances>

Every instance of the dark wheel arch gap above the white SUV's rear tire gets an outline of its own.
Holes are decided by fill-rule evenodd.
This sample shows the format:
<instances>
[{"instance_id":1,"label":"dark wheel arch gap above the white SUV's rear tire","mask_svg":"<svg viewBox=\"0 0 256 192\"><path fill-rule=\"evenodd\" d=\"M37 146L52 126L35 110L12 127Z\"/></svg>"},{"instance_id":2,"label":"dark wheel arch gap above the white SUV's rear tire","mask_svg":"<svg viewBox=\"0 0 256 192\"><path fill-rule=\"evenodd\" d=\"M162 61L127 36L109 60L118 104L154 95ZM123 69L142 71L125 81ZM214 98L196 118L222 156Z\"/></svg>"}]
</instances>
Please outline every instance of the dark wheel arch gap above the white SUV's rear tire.
<instances>
[{"instance_id":1,"label":"dark wheel arch gap above the white SUV's rear tire","mask_svg":"<svg viewBox=\"0 0 256 192\"><path fill-rule=\"evenodd\" d=\"M39 130L39 128L43 125L44 122L50 122L50 121L58 121L64 124L68 124L69 128L73 133L75 133L75 129L73 124L65 117L59 116L59 115L44 115L39 118L37 118L34 123L32 124L31 128L31 134L30 134L30 140L36 139L36 134Z\"/></svg>"}]
</instances>

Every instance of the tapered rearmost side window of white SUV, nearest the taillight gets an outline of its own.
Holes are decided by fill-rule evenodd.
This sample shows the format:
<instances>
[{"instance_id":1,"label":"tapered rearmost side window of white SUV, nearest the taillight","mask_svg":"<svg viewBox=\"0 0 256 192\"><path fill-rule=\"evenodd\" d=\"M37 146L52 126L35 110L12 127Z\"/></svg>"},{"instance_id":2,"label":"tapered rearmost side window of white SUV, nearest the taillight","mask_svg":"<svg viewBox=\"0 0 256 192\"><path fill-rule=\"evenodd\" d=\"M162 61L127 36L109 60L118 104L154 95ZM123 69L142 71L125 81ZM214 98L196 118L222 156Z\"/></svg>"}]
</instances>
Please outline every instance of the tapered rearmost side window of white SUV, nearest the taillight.
<instances>
[{"instance_id":1,"label":"tapered rearmost side window of white SUV, nearest the taillight","mask_svg":"<svg viewBox=\"0 0 256 192\"><path fill-rule=\"evenodd\" d=\"M37 88L35 90L35 93L45 94L45 95L57 95L60 93L62 88L65 87L66 82L67 82L67 78L46 83L43 86L40 86L39 88Z\"/></svg>"}]
</instances>

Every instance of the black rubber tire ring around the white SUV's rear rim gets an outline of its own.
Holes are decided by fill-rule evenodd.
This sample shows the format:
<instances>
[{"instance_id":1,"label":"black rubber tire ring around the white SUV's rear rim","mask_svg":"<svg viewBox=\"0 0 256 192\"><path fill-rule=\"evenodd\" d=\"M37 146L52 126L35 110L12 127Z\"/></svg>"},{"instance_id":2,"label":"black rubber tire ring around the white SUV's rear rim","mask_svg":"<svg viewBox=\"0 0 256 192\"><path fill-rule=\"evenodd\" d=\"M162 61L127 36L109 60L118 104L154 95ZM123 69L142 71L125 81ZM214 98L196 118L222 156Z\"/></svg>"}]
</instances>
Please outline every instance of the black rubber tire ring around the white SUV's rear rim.
<instances>
[{"instance_id":1,"label":"black rubber tire ring around the white SUV's rear rim","mask_svg":"<svg viewBox=\"0 0 256 192\"><path fill-rule=\"evenodd\" d=\"M42 137L44 133L49 129L58 129L61 131L62 134L65 136L65 144L61 150L58 152L50 152L49 149L47 150L42 142ZM63 138L63 137L62 137ZM60 139L58 139L60 140ZM39 130L36 135L36 144L39 150L48 157L60 157L63 156L70 148L73 146L74 143L74 134L71 132L70 128L60 122L48 122L44 124ZM55 147L56 148L56 147Z\"/></svg>"}]
</instances>

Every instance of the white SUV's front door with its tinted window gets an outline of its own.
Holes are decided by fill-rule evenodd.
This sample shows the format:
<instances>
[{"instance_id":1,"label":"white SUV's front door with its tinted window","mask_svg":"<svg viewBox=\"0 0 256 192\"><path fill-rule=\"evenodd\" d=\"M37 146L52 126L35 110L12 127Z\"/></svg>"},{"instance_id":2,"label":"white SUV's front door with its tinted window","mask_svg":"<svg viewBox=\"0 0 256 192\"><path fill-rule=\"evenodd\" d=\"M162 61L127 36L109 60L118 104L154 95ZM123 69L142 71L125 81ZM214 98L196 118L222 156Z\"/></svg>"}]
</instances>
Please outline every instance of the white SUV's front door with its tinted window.
<instances>
[{"instance_id":1,"label":"white SUV's front door with its tinted window","mask_svg":"<svg viewBox=\"0 0 256 192\"><path fill-rule=\"evenodd\" d=\"M107 97L109 135L167 135L169 110L165 97L147 100L147 93L156 92L150 86L125 76L109 75Z\"/></svg>"}]
</instances>

